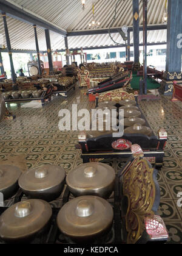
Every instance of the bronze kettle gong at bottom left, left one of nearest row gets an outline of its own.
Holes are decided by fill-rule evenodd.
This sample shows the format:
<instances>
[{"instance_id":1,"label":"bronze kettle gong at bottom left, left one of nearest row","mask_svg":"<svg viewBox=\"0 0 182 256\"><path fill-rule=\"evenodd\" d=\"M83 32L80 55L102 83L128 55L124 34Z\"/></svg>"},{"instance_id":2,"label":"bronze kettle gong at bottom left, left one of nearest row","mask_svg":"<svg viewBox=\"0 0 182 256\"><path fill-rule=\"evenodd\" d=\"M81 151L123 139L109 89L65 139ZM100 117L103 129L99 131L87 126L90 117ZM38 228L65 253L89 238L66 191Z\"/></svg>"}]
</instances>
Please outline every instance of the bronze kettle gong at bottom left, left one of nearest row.
<instances>
[{"instance_id":1,"label":"bronze kettle gong at bottom left, left one of nearest row","mask_svg":"<svg viewBox=\"0 0 182 256\"><path fill-rule=\"evenodd\" d=\"M49 225L52 208L49 203L24 200L0 216L0 236L8 243L31 241Z\"/></svg>"}]
</instances>

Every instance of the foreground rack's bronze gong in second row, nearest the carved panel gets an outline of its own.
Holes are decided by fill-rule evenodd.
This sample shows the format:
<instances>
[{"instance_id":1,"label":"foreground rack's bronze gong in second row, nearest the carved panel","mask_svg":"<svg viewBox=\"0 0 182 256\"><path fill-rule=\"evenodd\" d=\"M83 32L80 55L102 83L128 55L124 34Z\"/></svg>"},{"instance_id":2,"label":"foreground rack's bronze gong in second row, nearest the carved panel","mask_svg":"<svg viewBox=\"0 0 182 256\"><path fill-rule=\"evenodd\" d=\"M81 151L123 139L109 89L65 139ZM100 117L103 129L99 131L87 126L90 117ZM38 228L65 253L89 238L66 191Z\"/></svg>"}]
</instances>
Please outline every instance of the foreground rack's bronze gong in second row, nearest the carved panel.
<instances>
[{"instance_id":1,"label":"foreground rack's bronze gong in second row, nearest the carved panel","mask_svg":"<svg viewBox=\"0 0 182 256\"><path fill-rule=\"evenodd\" d=\"M114 189L115 170L104 163L85 163L70 171L66 183L74 196L109 198Z\"/></svg>"}]
</instances>

